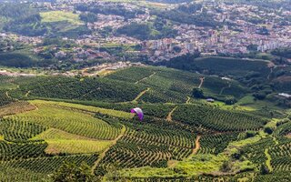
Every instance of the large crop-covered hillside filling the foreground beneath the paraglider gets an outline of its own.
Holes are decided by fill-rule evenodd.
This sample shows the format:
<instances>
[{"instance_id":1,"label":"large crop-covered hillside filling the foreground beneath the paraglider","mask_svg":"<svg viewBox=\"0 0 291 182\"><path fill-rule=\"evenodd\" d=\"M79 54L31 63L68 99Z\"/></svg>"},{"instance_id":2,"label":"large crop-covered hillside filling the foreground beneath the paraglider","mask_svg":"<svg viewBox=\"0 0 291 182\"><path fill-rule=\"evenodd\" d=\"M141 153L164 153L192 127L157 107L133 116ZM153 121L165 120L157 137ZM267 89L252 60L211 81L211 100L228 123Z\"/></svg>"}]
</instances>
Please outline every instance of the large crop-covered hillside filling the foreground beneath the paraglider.
<instances>
[{"instance_id":1,"label":"large crop-covered hillside filling the foreground beneath the paraglider","mask_svg":"<svg viewBox=\"0 0 291 182\"><path fill-rule=\"evenodd\" d=\"M291 178L290 110L247 101L252 91L235 79L139 66L104 77L0 82L6 181L51 181L64 161L85 162L96 181ZM198 86L205 98L193 96ZM226 105L229 96L238 102ZM130 114L135 106L143 121Z\"/></svg>"}]
</instances>

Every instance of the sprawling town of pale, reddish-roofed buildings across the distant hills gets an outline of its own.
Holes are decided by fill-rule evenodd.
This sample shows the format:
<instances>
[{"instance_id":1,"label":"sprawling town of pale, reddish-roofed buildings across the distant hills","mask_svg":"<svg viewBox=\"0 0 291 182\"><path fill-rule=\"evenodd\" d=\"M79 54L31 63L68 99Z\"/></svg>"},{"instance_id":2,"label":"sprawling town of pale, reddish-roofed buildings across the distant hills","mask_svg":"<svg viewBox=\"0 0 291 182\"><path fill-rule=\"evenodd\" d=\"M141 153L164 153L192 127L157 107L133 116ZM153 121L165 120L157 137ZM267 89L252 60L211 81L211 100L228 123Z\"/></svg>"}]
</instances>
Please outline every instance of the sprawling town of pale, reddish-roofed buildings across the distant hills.
<instances>
[{"instance_id":1,"label":"sprawling town of pale, reddish-roofed buildings across the distant hills","mask_svg":"<svg viewBox=\"0 0 291 182\"><path fill-rule=\"evenodd\" d=\"M70 0L56 1L55 4L44 3L50 10L74 11L75 4L89 1ZM95 2L95 4L115 5L116 3ZM123 50L123 53L146 56L150 61L169 60L175 56L200 52L202 55L211 56L219 54L247 54L250 51L266 52L280 47L291 46L291 22L287 19L290 11L284 9L264 9L256 5L237 5L216 2L203 3L202 8L193 12L193 15L207 15L217 23L215 27L198 26L190 24L172 24L171 27L177 34L171 38L141 41L135 37L116 35L115 31L124 26L135 23L150 23L156 16L146 6L138 6L132 3L120 3L129 11L141 8L143 14L137 14L132 18L123 15L97 15L97 21L87 23L87 27L93 31L91 35L82 35L72 39L75 45L69 50L54 50L56 58L69 56L74 61L91 60L97 58L118 60L118 55L108 52L106 47L110 45L139 45L138 50ZM191 5L191 4L190 4ZM175 8L177 5L171 5ZM72 10L73 8L73 10ZM219 10L219 11L217 11ZM78 13L78 12L76 12ZM100 30L106 31L102 35ZM7 36L0 34L0 38ZM39 45L43 37L28 37L22 35L8 35L30 45ZM252 48L250 48L252 47ZM255 47L255 48L254 48ZM37 47L35 54L41 53L42 48ZM116 57L117 56L117 57ZM119 59L122 60L122 59Z\"/></svg>"}]
</instances>

